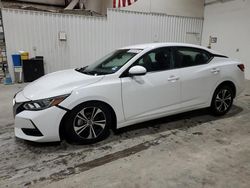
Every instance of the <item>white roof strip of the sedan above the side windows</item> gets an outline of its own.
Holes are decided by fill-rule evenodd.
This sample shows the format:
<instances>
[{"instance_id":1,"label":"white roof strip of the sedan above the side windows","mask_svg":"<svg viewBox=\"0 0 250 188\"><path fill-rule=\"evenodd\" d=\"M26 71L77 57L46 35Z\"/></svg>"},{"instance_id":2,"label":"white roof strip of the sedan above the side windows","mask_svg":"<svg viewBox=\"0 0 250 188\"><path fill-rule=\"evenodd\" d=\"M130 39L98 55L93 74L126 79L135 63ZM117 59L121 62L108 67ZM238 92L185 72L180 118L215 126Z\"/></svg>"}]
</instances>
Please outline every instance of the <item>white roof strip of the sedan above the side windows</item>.
<instances>
[{"instance_id":1,"label":"white roof strip of the sedan above the side windows","mask_svg":"<svg viewBox=\"0 0 250 188\"><path fill-rule=\"evenodd\" d=\"M173 42L137 44L137 45L123 47L121 49L142 49L142 50L146 50L146 49L154 49L154 48L160 48L160 47L171 47L171 46L198 48L198 49L206 50L206 51L208 51L208 52L210 52L212 54L223 55L221 53L218 53L218 52L216 52L214 50L211 50L211 49L203 47L203 46L188 44L188 43L173 43Z\"/></svg>"}]
</instances>

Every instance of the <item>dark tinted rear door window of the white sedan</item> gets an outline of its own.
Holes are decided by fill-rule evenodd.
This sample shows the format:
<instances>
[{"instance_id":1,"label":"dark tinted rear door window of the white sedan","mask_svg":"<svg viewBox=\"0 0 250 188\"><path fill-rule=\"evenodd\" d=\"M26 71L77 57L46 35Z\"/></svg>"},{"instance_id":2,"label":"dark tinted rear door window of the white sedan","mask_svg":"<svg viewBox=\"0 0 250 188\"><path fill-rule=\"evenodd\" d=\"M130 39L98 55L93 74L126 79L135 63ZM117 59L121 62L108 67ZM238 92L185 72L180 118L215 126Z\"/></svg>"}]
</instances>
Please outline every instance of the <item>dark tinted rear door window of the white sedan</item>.
<instances>
[{"instance_id":1,"label":"dark tinted rear door window of the white sedan","mask_svg":"<svg viewBox=\"0 0 250 188\"><path fill-rule=\"evenodd\" d=\"M209 61L209 54L200 49L178 47L174 53L174 63L176 68L202 65Z\"/></svg>"}]
</instances>

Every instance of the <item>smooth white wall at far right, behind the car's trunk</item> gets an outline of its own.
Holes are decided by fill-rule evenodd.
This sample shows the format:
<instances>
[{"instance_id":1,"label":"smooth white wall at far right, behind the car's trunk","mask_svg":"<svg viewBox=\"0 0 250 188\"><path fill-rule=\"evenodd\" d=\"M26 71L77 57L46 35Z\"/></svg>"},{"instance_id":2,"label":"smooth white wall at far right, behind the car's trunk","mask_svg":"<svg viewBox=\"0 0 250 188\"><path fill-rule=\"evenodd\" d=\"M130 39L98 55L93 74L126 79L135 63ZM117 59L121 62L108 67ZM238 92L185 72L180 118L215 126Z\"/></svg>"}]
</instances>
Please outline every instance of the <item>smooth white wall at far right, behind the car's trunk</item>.
<instances>
[{"instance_id":1,"label":"smooth white wall at far right, behind the car's trunk","mask_svg":"<svg viewBox=\"0 0 250 188\"><path fill-rule=\"evenodd\" d=\"M212 49L241 60L246 65L246 77L250 79L250 0L207 5L202 45L208 45L209 36L218 38Z\"/></svg>"}]
</instances>

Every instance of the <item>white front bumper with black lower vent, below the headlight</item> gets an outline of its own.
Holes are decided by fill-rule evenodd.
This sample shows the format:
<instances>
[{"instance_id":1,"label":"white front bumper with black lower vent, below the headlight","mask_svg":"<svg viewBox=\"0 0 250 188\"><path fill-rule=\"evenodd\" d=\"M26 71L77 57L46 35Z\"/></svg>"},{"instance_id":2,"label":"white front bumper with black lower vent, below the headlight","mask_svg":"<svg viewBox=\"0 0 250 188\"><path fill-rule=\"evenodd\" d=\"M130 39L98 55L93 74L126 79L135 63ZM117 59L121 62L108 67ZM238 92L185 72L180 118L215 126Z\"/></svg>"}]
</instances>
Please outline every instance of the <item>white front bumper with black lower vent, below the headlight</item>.
<instances>
[{"instance_id":1,"label":"white front bumper with black lower vent, below the headlight","mask_svg":"<svg viewBox=\"0 0 250 188\"><path fill-rule=\"evenodd\" d=\"M60 141L59 126L66 111L56 106L15 115L15 136L34 142Z\"/></svg>"}]
</instances>

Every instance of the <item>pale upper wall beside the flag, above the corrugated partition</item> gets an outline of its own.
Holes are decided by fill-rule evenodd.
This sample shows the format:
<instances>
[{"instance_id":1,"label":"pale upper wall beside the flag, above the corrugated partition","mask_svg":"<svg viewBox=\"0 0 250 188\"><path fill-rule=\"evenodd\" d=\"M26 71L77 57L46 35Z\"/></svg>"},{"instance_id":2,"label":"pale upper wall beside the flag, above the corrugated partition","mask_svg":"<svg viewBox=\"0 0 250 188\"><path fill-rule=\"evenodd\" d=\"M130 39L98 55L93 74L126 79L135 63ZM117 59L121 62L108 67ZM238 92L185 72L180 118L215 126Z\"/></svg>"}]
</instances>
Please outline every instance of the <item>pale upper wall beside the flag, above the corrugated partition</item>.
<instances>
[{"instance_id":1,"label":"pale upper wall beside the flag, above the corrugated partition","mask_svg":"<svg viewBox=\"0 0 250 188\"><path fill-rule=\"evenodd\" d=\"M103 6L112 7L112 1L103 0ZM131 6L121 9L201 18L203 17L204 0L138 0Z\"/></svg>"}]
</instances>

